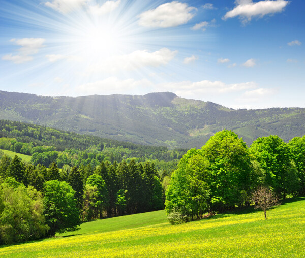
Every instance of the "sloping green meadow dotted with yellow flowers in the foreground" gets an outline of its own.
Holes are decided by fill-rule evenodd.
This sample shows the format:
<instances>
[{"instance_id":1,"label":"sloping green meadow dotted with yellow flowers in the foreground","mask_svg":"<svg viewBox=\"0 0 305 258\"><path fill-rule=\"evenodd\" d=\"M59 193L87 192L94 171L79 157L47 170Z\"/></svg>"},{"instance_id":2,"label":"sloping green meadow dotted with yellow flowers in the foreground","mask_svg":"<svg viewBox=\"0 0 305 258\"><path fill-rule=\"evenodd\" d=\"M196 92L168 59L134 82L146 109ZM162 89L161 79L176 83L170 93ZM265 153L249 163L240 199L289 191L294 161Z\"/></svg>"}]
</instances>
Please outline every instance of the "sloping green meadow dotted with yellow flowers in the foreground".
<instances>
[{"instance_id":1,"label":"sloping green meadow dotted with yellow flowers in the foreground","mask_svg":"<svg viewBox=\"0 0 305 258\"><path fill-rule=\"evenodd\" d=\"M0 248L2 257L305 257L305 198L170 225L164 211L84 223L81 230Z\"/></svg>"}]
</instances>

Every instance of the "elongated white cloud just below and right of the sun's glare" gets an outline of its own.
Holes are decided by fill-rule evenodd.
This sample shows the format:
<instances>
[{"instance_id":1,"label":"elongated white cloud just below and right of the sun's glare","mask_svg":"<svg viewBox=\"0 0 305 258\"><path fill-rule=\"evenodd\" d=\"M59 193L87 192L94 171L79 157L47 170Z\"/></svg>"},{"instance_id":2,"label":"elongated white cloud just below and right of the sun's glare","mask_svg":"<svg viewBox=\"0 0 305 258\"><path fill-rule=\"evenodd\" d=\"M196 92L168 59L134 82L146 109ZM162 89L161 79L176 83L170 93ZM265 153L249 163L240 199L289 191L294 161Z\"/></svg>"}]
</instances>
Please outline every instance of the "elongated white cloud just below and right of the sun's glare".
<instances>
[{"instance_id":1,"label":"elongated white cloud just below and right of the sun's glare","mask_svg":"<svg viewBox=\"0 0 305 258\"><path fill-rule=\"evenodd\" d=\"M135 70L145 66L164 66L168 64L178 51L171 51L168 48L161 48L155 52L148 50L137 50L127 55L114 56L102 60L100 64L90 67L91 72L116 72L119 70Z\"/></svg>"}]
</instances>

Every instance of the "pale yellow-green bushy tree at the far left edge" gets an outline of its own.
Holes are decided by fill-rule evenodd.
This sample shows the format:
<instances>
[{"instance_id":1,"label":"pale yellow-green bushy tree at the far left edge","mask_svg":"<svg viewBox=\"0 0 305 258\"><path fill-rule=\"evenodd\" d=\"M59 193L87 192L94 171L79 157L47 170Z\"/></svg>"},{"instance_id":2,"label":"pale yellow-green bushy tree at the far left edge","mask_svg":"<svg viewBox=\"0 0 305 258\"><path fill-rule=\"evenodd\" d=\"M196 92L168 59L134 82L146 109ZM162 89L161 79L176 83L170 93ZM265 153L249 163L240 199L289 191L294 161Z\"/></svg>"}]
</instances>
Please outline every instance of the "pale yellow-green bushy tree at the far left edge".
<instances>
[{"instance_id":1,"label":"pale yellow-green bushy tree at the far left edge","mask_svg":"<svg viewBox=\"0 0 305 258\"><path fill-rule=\"evenodd\" d=\"M42 238L49 227L43 216L42 195L32 186L7 178L0 189L0 241L12 244Z\"/></svg>"}]
</instances>

